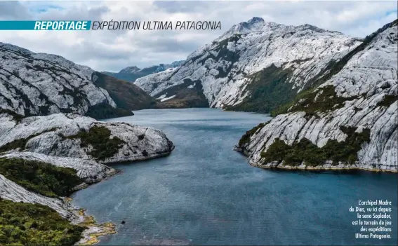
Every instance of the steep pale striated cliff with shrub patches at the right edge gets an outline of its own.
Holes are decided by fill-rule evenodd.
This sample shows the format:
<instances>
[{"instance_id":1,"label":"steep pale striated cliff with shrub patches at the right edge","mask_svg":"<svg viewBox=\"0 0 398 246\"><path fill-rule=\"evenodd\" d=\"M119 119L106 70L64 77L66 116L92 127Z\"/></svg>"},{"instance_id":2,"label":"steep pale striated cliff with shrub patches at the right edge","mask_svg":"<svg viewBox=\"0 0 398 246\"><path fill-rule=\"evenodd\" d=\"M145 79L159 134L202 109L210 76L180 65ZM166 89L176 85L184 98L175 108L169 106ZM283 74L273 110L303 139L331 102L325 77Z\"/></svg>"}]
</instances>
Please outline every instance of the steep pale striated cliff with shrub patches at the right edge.
<instances>
[{"instance_id":1,"label":"steep pale striated cliff with shrub patches at the right edge","mask_svg":"<svg viewBox=\"0 0 398 246\"><path fill-rule=\"evenodd\" d=\"M236 147L263 168L398 171L397 20L317 76Z\"/></svg>"}]
</instances>

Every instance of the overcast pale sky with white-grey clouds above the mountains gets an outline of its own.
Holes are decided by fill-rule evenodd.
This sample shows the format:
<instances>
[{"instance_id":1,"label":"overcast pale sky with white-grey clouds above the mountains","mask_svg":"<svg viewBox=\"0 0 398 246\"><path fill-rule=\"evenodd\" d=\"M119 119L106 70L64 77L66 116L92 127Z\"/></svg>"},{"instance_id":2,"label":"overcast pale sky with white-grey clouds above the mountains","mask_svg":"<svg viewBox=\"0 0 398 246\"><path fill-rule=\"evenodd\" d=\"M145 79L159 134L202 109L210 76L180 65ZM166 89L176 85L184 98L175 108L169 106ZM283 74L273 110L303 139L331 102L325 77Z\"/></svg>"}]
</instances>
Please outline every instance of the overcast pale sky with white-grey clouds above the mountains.
<instances>
[{"instance_id":1,"label":"overcast pale sky with white-grey clouds above the mountains","mask_svg":"<svg viewBox=\"0 0 398 246\"><path fill-rule=\"evenodd\" d=\"M396 1L0 1L1 20L215 20L221 30L0 31L0 42L98 71L185 60L253 16L364 37L397 19Z\"/></svg>"}]
</instances>

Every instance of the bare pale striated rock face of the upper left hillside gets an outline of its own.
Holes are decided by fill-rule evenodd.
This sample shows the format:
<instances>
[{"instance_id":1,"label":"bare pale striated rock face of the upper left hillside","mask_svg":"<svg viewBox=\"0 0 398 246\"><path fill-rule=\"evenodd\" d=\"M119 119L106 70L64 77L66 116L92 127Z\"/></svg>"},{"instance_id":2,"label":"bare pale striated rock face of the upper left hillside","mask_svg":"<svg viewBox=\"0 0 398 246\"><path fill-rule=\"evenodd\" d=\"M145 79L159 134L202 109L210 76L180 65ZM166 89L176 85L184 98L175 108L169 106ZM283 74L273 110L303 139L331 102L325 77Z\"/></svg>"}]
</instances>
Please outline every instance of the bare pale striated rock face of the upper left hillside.
<instances>
[{"instance_id":1,"label":"bare pale striated rock face of the upper left hillside","mask_svg":"<svg viewBox=\"0 0 398 246\"><path fill-rule=\"evenodd\" d=\"M93 70L58 55L32 53L0 43L0 104L21 115L86 114L97 104L116 104L95 86Z\"/></svg>"}]
</instances>

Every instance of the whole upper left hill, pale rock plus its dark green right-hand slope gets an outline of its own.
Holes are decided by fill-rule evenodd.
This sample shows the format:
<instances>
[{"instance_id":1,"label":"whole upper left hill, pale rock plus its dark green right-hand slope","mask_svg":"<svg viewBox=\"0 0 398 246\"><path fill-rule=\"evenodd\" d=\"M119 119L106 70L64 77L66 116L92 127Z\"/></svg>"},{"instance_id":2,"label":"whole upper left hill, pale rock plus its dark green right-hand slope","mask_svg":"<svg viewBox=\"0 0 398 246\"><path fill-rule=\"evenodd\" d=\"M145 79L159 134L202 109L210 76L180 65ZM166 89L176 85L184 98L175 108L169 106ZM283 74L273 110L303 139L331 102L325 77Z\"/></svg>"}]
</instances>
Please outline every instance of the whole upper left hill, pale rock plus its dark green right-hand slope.
<instances>
[{"instance_id":1,"label":"whole upper left hill, pale rock plus its dark green right-hand slope","mask_svg":"<svg viewBox=\"0 0 398 246\"><path fill-rule=\"evenodd\" d=\"M58 55L0 43L1 109L24 116L74 112L110 118L133 115L131 110L153 104L150 95L130 83L109 88L114 80ZM115 92L118 89L123 93ZM115 103L127 100L127 104Z\"/></svg>"}]
</instances>

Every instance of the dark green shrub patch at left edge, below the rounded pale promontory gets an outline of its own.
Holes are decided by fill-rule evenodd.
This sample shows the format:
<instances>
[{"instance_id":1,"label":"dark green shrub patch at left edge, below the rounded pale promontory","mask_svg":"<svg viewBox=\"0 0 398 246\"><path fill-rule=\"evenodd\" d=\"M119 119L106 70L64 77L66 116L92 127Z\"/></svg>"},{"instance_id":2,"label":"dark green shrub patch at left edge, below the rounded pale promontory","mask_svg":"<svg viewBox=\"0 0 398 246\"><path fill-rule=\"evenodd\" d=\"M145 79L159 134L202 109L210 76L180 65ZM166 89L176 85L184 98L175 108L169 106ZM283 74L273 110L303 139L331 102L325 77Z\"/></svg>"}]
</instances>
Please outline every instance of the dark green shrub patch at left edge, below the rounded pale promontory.
<instances>
[{"instance_id":1,"label":"dark green shrub patch at left edge, below the rounded pale promontory","mask_svg":"<svg viewBox=\"0 0 398 246\"><path fill-rule=\"evenodd\" d=\"M0 158L0 174L28 191L49 197L69 196L74 186L84 182L72 168L18 158Z\"/></svg>"}]
</instances>

